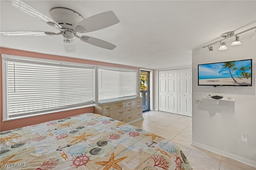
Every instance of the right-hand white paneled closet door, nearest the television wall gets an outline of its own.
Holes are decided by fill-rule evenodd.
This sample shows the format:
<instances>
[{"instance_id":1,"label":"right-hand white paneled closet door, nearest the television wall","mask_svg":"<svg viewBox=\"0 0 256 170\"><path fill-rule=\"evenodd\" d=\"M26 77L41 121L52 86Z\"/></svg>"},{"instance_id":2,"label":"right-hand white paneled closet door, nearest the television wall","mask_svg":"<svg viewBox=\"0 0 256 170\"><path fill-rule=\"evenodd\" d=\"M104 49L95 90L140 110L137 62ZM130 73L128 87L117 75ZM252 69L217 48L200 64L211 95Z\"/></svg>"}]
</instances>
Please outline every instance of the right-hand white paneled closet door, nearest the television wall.
<instances>
[{"instance_id":1,"label":"right-hand white paneled closet door, nearest the television wall","mask_svg":"<svg viewBox=\"0 0 256 170\"><path fill-rule=\"evenodd\" d=\"M178 114L192 116L192 69L178 69Z\"/></svg>"}]
</instances>

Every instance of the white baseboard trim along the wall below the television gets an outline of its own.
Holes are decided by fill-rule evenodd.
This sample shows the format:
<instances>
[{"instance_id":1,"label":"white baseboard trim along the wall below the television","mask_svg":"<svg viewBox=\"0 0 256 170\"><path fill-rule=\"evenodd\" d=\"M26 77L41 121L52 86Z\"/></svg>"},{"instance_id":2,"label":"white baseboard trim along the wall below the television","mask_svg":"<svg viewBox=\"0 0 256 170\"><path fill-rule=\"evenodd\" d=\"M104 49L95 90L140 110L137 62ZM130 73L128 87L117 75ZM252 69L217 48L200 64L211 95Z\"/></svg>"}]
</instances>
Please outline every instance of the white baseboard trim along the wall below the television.
<instances>
[{"instance_id":1,"label":"white baseboard trim along the wall below the television","mask_svg":"<svg viewBox=\"0 0 256 170\"><path fill-rule=\"evenodd\" d=\"M247 165L250 165L250 166L253 166L253 167L256 168L256 162L255 161L252 161L252 160L249 160L249 159L246 159L246 158L243 158L243 157L240 157L240 156L237 156L237 155L225 152L223 150L219 150L219 149L213 148L211 146L207 146L205 144L198 143L198 142L192 141L191 144L193 146L197 146L199 148L203 148L203 149L209 150L209 151L214 152L216 154L220 154L222 156L234 159L234 160L236 160L238 162L242 162L244 164L247 164Z\"/></svg>"}]
</instances>

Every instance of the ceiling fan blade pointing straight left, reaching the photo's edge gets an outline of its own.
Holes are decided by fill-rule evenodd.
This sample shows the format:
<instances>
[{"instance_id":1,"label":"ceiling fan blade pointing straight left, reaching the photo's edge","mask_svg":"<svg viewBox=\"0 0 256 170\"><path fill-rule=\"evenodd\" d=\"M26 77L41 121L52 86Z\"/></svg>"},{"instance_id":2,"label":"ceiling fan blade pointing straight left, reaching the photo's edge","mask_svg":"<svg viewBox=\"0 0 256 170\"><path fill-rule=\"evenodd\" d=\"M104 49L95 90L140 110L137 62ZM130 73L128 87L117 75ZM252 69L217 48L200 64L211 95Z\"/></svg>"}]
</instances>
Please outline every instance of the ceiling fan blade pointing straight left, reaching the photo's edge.
<instances>
[{"instance_id":1,"label":"ceiling fan blade pointing straight left, reaching the photo's edge","mask_svg":"<svg viewBox=\"0 0 256 170\"><path fill-rule=\"evenodd\" d=\"M54 36L59 35L61 33L54 32L42 32L42 31L6 31L0 32L6 36Z\"/></svg>"}]
</instances>

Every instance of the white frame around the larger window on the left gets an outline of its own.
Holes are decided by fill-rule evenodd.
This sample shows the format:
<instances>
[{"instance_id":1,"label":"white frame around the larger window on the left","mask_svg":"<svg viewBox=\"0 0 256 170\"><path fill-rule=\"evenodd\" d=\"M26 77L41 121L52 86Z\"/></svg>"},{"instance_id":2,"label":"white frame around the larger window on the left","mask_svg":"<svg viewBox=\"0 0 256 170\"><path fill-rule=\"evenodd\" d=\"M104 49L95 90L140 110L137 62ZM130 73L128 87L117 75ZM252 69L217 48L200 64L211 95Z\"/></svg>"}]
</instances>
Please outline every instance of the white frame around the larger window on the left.
<instances>
[{"instance_id":1,"label":"white frame around the larger window on the left","mask_svg":"<svg viewBox=\"0 0 256 170\"><path fill-rule=\"evenodd\" d=\"M8 115L8 86L7 86L7 60L20 60L20 61L29 61L30 63L44 63L47 65L47 63L50 63L49 65L60 65L60 66L70 66L72 65L73 67L85 67L85 68L92 68L94 69L94 100L96 99L96 94L97 94L97 69L96 65L90 65L90 64L84 64L84 63L73 63L73 62L67 62L67 61L58 61L58 60L50 60L50 59L40 59L40 58L32 58L32 57L23 57L23 56L16 56L16 55L7 55L7 54L2 54L2 104L3 104L3 119L2 121L10 121L14 119L21 119L25 117L32 117L32 116L38 116L38 115L45 115L49 113L57 113L57 112L62 112L62 111L68 111L68 110L74 110L74 109L80 109L80 108L86 108L86 107L93 107L94 104L93 102L88 105L80 106L80 107L72 107L68 109L61 109L57 111L49 111L45 113L39 113L39 114L33 114L33 115L26 115L26 116L21 116L21 117L14 117L14 118L9 118Z\"/></svg>"}]
</instances>

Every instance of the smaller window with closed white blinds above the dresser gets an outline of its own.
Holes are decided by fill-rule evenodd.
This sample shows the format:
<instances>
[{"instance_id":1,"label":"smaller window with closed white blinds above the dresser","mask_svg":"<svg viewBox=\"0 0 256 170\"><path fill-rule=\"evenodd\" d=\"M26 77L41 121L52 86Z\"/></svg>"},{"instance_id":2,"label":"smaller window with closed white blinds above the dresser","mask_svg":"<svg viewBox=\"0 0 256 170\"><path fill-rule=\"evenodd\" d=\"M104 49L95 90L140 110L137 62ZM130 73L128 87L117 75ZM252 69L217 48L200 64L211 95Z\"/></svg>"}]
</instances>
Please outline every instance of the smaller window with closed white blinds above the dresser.
<instances>
[{"instance_id":1,"label":"smaller window with closed white blinds above the dresser","mask_svg":"<svg viewBox=\"0 0 256 170\"><path fill-rule=\"evenodd\" d=\"M98 100L136 96L137 70L98 67Z\"/></svg>"}]
</instances>

